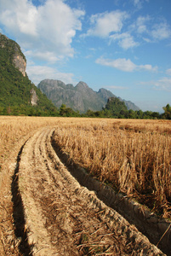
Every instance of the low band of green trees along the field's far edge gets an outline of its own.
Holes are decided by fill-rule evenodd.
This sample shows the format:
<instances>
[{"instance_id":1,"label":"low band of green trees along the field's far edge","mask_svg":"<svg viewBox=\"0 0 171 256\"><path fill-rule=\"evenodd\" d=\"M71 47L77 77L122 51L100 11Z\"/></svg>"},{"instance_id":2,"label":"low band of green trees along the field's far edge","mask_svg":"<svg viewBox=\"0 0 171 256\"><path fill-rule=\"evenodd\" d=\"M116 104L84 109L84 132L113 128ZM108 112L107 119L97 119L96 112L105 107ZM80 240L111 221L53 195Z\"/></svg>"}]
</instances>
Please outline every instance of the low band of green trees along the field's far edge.
<instances>
[{"instance_id":1,"label":"low band of green trees along the field's far edge","mask_svg":"<svg viewBox=\"0 0 171 256\"><path fill-rule=\"evenodd\" d=\"M113 119L171 119L171 106L169 104L163 107L164 113L142 110L127 109L115 100L108 102L101 111L92 111L88 109L86 113L79 113L72 108L67 108L62 104L60 108L38 108L26 105L0 107L0 115L26 115L26 116L55 116L55 117L89 117L89 118L113 118Z\"/></svg>"}]
</instances>

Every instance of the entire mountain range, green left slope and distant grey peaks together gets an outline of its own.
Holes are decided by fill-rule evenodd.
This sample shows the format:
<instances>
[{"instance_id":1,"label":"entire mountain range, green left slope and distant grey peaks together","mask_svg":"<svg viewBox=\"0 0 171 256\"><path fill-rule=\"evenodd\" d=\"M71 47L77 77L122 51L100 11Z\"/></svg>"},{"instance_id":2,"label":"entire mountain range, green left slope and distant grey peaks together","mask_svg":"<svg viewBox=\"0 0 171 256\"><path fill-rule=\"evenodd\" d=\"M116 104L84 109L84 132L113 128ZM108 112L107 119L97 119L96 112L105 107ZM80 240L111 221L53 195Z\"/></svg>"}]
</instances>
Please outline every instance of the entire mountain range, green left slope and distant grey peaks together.
<instances>
[{"instance_id":1,"label":"entire mountain range, green left slope and distant grey peaks together","mask_svg":"<svg viewBox=\"0 0 171 256\"><path fill-rule=\"evenodd\" d=\"M26 74L26 57L20 45L0 33L0 114L56 114L65 104L80 113L105 108L110 90L98 92L79 82L76 86L60 80L44 79L36 86ZM128 109L139 110L133 102L124 101ZM55 108L57 107L57 108Z\"/></svg>"}]
</instances>

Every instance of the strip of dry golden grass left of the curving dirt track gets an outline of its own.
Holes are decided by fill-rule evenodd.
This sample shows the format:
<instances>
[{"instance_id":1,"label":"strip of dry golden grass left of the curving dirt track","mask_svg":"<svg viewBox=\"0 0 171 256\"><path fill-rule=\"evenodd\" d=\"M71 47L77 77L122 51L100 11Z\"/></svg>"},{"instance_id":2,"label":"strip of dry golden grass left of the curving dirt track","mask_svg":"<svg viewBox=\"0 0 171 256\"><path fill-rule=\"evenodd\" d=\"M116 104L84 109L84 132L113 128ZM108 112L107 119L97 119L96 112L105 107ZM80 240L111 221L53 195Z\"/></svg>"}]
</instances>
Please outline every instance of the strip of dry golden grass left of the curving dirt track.
<instances>
[{"instance_id":1,"label":"strip of dry golden grass left of the curving dirt track","mask_svg":"<svg viewBox=\"0 0 171 256\"><path fill-rule=\"evenodd\" d=\"M0 116L0 255L22 255L20 240L14 236L11 176L24 137L39 127L57 124L53 118Z\"/></svg>"}]
</instances>

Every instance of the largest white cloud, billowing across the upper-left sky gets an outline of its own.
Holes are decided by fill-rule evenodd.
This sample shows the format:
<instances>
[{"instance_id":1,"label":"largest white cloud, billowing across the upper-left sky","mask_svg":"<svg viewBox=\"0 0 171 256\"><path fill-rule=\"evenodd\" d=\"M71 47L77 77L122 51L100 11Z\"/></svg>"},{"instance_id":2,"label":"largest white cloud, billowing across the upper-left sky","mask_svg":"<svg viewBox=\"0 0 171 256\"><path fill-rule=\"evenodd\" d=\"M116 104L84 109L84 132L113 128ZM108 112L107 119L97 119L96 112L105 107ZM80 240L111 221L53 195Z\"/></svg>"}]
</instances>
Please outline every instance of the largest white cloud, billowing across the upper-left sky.
<instances>
[{"instance_id":1,"label":"largest white cloud, billowing across the upper-left sky","mask_svg":"<svg viewBox=\"0 0 171 256\"><path fill-rule=\"evenodd\" d=\"M46 51L72 56L71 42L76 31L82 29L83 15L82 10L71 9L63 0L46 0L38 7L29 0L0 1L4 32L12 34L22 48L34 49L34 55Z\"/></svg>"}]
</instances>

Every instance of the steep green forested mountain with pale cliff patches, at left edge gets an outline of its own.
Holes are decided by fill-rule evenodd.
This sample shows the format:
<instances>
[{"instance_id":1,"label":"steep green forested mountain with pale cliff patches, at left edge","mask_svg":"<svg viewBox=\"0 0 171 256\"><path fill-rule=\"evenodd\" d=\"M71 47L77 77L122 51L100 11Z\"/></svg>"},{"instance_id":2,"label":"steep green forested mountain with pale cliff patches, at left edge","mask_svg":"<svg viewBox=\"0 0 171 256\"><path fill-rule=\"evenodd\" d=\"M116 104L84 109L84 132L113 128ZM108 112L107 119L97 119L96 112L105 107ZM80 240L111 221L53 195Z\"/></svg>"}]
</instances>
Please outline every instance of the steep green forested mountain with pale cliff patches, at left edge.
<instances>
[{"instance_id":1,"label":"steep green forested mountain with pale cliff patches, at left edge","mask_svg":"<svg viewBox=\"0 0 171 256\"><path fill-rule=\"evenodd\" d=\"M0 56L0 113L12 114L14 109L23 114L28 108L31 113L36 108L39 112L55 109L47 96L28 79L26 57L20 45L1 33Z\"/></svg>"}]
</instances>

